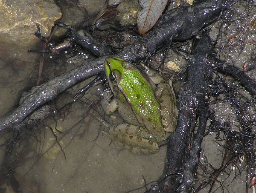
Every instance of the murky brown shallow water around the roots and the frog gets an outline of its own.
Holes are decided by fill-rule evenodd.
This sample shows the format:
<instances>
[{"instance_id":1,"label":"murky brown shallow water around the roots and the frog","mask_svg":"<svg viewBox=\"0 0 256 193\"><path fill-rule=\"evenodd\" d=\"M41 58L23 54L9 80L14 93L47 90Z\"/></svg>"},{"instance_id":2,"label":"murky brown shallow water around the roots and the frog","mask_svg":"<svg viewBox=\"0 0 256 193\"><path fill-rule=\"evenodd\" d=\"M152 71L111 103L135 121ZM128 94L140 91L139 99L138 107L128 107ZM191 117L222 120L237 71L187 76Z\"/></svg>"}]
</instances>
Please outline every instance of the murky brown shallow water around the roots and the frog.
<instances>
[{"instance_id":1,"label":"murky brown shallow water around the roots and the frog","mask_svg":"<svg viewBox=\"0 0 256 193\"><path fill-rule=\"evenodd\" d=\"M97 2L97 5L99 3L102 6L102 2ZM93 4L86 4L89 8L97 7L96 2L87 3ZM98 11L95 7L94 11ZM26 50L35 48L38 44L29 47L1 44L3 46L0 48L0 115L5 115L14 107L21 90L35 86L39 54L27 53ZM240 56L244 57L244 55ZM241 63L244 60L241 58ZM56 105L61 107L72 101L70 93L74 94L82 84L62 94L55 101ZM92 98L98 96L93 92L93 95L85 97L92 101ZM17 148L24 151L21 160L23 164L15 170L15 177L23 192L124 193L159 178L163 172L166 146L161 147L159 153L147 156L137 156L122 150L118 144L99 131L99 122L85 112L86 108L87 104L77 102L67 111L57 113L54 118L48 118L44 121L45 126L34 128L34 131L38 130L35 131L38 140L31 137L26 146L22 144ZM110 121L118 123L120 119L114 114ZM55 131L60 137L59 144L64 153L55 143L55 137L49 126L65 133ZM207 135L203 147L208 161L218 167L223 152L214 139L215 135ZM224 181L225 178L223 174L218 180ZM232 185L229 184L233 178L225 181L224 184L230 192L244 192L245 179L246 176L237 176ZM145 191L145 187L134 190L140 193ZM222 190L219 188L216 192Z\"/></svg>"}]
</instances>

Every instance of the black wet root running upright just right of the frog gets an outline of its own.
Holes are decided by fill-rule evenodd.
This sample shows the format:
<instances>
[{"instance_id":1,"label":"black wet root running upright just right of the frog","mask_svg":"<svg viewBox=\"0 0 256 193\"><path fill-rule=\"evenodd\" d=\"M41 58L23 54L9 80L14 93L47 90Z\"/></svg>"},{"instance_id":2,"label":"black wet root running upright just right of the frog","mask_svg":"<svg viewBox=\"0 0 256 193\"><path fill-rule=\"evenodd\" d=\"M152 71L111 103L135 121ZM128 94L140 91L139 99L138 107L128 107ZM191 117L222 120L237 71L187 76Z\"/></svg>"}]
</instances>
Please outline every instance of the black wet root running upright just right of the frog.
<instances>
[{"instance_id":1,"label":"black wet root running upright just right of the frog","mask_svg":"<svg viewBox=\"0 0 256 193\"><path fill-rule=\"evenodd\" d=\"M206 102L209 89L207 89L207 82L212 78L212 70L207 64L208 54L212 49L208 31L205 30L193 43L192 58L187 68L186 86L181 89L178 99L177 127L168 141L164 176L183 170L183 177L182 179L180 176L166 178L158 185L158 190L161 192L175 190L189 192L195 182L195 169L201 153L201 143L208 119ZM199 116L199 125L195 138L190 144L189 139L195 132L197 116ZM191 145L192 147L190 147Z\"/></svg>"}]
</instances>

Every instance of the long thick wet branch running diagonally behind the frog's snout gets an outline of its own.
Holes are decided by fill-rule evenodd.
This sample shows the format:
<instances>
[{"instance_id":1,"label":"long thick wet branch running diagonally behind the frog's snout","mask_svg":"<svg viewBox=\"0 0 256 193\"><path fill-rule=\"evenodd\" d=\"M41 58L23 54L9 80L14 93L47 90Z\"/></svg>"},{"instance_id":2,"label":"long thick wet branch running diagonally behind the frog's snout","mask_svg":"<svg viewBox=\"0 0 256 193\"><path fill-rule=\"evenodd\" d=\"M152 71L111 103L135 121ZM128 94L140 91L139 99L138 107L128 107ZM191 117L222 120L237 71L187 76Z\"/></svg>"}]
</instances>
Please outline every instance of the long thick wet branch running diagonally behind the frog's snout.
<instances>
[{"instance_id":1,"label":"long thick wet branch running diagonally behind the frog's snout","mask_svg":"<svg viewBox=\"0 0 256 193\"><path fill-rule=\"evenodd\" d=\"M200 3L192 8L179 6L169 14L169 23L164 23L142 38L142 40L134 42L114 56L135 61L155 52L157 46L161 44L168 43L169 45L169 42L172 40L186 40L196 35L201 28L216 20L231 4L232 1L212 0L206 3ZM215 8L214 12L212 11L212 6ZM78 84L92 75L102 73L105 58L106 56L103 56L82 64L70 72L32 88L23 96L16 109L0 119L0 131L20 124L35 109L51 101L59 93L71 86Z\"/></svg>"}]
</instances>

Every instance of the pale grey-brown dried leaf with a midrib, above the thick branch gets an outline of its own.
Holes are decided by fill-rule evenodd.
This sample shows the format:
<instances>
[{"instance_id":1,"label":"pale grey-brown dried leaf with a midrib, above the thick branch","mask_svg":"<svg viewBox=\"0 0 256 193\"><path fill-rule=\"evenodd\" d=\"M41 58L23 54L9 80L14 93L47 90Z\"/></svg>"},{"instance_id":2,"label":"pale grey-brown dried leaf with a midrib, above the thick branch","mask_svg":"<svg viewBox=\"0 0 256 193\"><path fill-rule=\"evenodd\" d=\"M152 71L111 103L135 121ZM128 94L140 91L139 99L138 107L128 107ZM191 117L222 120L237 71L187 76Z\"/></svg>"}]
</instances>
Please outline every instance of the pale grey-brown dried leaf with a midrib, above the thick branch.
<instances>
[{"instance_id":1,"label":"pale grey-brown dried leaf with a midrib, above the thick branch","mask_svg":"<svg viewBox=\"0 0 256 193\"><path fill-rule=\"evenodd\" d=\"M139 33L144 35L157 22L168 0L139 0L142 10L137 16Z\"/></svg>"}]
</instances>

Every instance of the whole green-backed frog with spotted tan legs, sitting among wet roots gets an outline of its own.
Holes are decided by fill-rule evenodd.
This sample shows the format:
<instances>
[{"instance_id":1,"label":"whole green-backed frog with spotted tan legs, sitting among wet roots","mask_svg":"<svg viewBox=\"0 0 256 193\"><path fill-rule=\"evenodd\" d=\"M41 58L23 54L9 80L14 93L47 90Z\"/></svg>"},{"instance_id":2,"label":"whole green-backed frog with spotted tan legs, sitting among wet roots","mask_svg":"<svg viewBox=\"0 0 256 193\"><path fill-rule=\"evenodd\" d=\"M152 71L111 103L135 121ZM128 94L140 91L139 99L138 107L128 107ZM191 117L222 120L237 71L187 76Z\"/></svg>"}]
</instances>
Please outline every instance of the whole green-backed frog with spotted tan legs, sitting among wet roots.
<instances>
[{"instance_id":1,"label":"whole green-backed frog with spotted tan legs, sitting among wet roots","mask_svg":"<svg viewBox=\"0 0 256 193\"><path fill-rule=\"evenodd\" d=\"M118 111L125 123L111 125L103 121L103 132L125 149L136 154L159 151L177 124L177 106L172 81L166 83L160 73L141 64L143 70L122 58L105 59L105 75L111 92L101 104L107 115Z\"/></svg>"}]
</instances>

